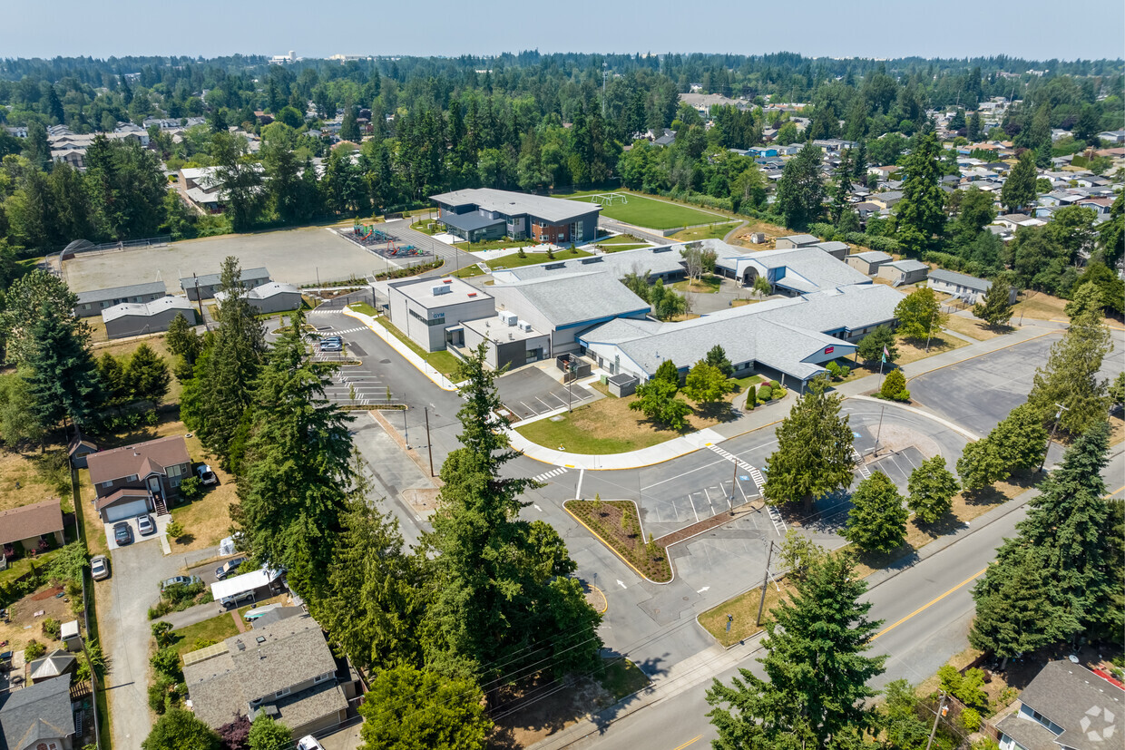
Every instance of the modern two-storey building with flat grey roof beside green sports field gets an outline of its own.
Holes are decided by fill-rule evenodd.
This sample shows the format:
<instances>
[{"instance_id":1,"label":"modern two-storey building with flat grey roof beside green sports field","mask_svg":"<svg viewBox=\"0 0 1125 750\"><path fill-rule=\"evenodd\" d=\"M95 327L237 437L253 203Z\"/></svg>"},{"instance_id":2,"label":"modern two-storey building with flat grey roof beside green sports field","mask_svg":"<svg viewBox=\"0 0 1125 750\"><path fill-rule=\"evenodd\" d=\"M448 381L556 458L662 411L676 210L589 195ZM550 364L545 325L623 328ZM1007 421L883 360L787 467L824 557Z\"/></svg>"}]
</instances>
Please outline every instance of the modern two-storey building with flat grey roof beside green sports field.
<instances>
[{"instance_id":1,"label":"modern two-storey building with flat grey roof beside green sports field","mask_svg":"<svg viewBox=\"0 0 1125 750\"><path fill-rule=\"evenodd\" d=\"M556 245L580 245L596 237L602 210L597 204L492 188L453 190L430 200L440 210L438 220L464 238L506 235Z\"/></svg>"}]
</instances>

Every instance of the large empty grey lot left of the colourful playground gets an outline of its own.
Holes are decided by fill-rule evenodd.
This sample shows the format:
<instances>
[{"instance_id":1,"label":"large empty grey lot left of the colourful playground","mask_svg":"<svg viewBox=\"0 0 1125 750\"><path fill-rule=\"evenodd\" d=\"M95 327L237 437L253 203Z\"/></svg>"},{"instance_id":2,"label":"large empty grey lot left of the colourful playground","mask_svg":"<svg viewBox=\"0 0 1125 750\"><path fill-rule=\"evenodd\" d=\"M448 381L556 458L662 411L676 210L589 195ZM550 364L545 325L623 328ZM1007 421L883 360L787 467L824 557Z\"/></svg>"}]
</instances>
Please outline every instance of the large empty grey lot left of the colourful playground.
<instances>
[{"instance_id":1,"label":"large empty grey lot left of the colourful playground","mask_svg":"<svg viewBox=\"0 0 1125 750\"><path fill-rule=\"evenodd\" d=\"M308 227L79 255L66 261L63 272L73 291L162 280L169 293L179 293L180 279L192 272L216 273L227 255L237 257L243 269L264 266L274 281L297 286L366 277L385 265L381 257L327 228Z\"/></svg>"}]
</instances>

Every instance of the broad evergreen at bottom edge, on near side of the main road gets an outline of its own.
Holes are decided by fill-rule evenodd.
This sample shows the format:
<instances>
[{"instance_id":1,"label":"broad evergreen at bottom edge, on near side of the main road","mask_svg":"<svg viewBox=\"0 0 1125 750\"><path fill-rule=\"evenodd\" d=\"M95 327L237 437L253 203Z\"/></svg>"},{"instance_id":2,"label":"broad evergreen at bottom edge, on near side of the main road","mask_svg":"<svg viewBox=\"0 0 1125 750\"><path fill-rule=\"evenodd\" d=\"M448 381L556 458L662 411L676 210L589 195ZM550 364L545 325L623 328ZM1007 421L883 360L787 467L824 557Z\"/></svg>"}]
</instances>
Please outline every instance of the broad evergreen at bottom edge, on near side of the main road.
<instances>
[{"instance_id":1,"label":"broad evergreen at bottom edge, on near side of the main road","mask_svg":"<svg viewBox=\"0 0 1125 750\"><path fill-rule=\"evenodd\" d=\"M867 681L882 674L885 657L864 654L881 624L861 602L867 585L846 555L826 555L794 588L766 623L758 662L767 679L740 668L730 685L713 680L706 693L716 748L827 750L848 730L875 725Z\"/></svg>"}]
</instances>

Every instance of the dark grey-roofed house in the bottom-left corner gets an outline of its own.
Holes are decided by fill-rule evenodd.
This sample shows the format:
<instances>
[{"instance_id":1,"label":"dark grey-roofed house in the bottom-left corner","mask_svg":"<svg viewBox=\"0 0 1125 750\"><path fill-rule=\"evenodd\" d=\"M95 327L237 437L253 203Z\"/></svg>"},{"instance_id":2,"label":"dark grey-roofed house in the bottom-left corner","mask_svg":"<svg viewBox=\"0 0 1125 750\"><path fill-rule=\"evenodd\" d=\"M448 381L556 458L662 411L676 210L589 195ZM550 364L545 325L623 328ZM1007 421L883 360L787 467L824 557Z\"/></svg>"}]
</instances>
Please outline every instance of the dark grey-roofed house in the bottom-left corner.
<instances>
[{"instance_id":1,"label":"dark grey-roofed house in the bottom-left corner","mask_svg":"<svg viewBox=\"0 0 1125 750\"><path fill-rule=\"evenodd\" d=\"M73 750L74 734L69 676L0 693L3 750Z\"/></svg>"}]
</instances>

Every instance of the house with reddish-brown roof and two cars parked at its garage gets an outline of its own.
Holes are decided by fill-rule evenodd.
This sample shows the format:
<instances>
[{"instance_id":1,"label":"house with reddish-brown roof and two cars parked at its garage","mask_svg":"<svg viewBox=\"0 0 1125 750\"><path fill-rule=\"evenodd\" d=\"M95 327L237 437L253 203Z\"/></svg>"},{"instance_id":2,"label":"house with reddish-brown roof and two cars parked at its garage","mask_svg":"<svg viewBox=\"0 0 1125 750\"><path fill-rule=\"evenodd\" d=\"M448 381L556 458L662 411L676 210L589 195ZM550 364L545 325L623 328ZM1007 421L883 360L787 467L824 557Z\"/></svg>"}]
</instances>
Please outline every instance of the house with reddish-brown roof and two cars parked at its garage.
<instances>
[{"instance_id":1,"label":"house with reddish-brown roof and two cars parked at its garage","mask_svg":"<svg viewBox=\"0 0 1125 750\"><path fill-rule=\"evenodd\" d=\"M168 499L179 495L191 475L191 458L182 435L99 451L87 457L94 500L104 522L143 513L168 512Z\"/></svg>"}]
</instances>

